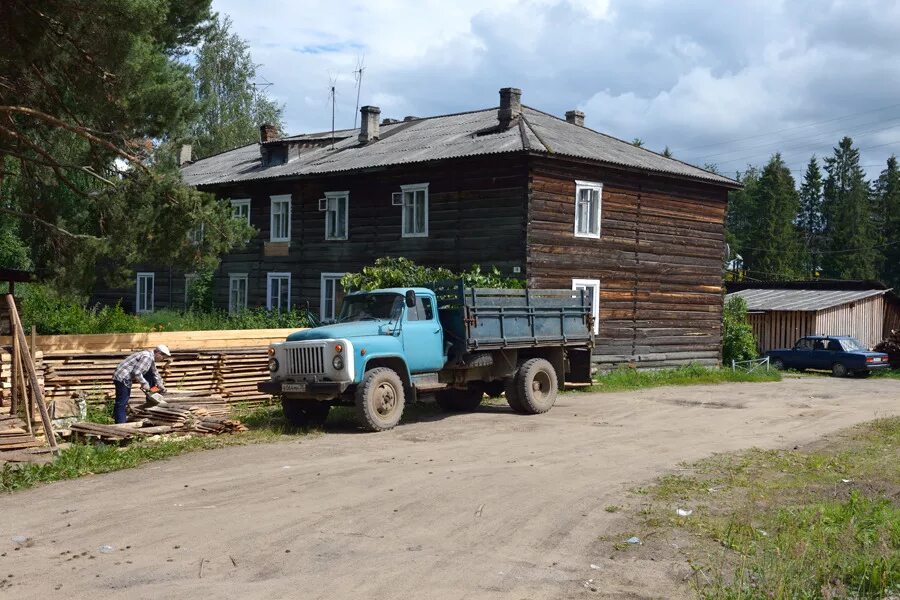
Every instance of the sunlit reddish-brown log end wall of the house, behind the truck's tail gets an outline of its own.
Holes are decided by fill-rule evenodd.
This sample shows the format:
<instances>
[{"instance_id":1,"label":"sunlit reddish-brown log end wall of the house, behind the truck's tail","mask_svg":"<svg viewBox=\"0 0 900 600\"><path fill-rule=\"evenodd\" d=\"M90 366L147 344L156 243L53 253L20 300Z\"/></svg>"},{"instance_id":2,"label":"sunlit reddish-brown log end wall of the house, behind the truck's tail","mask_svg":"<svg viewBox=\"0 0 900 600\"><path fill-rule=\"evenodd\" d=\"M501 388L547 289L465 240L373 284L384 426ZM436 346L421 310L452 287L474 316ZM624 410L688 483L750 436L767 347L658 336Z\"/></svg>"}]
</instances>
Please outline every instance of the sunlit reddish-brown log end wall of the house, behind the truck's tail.
<instances>
[{"instance_id":1,"label":"sunlit reddish-brown log end wall of the house, behind the truck's tail","mask_svg":"<svg viewBox=\"0 0 900 600\"><path fill-rule=\"evenodd\" d=\"M603 184L600 239L575 237L575 181ZM529 180L529 284L600 280L601 367L721 360L722 188L535 158Z\"/></svg>"}]
</instances>

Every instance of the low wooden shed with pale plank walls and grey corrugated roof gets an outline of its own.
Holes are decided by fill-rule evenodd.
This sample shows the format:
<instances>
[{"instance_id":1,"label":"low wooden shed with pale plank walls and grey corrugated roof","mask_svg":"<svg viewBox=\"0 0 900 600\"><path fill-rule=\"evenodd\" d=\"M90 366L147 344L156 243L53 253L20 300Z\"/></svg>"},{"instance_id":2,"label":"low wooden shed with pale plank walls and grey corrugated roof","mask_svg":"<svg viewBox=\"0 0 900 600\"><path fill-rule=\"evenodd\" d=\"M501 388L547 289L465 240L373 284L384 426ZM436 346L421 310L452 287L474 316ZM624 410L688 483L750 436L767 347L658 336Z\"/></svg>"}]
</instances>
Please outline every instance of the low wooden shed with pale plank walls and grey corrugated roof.
<instances>
[{"instance_id":1,"label":"low wooden shed with pale plank walls and grey corrugated roof","mask_svg":"<svg viewBox=\"0 0 900 600\"><path fill-rule=\"evenodd\" d=\"M896 324L900 303L878 282L730 284L747 302L760 352L790 348L806 335L850 335L871 348ZM741 289L736 289L741 288Z\"/></svg>"}]
</instances>

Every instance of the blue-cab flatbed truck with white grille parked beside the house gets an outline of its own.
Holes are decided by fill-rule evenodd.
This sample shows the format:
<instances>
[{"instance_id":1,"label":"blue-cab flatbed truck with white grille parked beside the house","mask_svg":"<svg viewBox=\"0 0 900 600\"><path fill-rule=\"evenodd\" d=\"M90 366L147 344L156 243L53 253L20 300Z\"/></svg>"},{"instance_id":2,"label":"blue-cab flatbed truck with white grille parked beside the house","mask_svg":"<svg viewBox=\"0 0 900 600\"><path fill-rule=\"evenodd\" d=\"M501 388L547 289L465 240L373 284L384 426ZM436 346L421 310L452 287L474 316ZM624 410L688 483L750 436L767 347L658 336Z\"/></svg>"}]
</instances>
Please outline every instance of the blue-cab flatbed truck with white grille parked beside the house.
<instances>
[{"instance_id":1,"label":"blue-cab flatbed truck with white grille parked beside the house","mask_svg":"<svg viewBox=\"0 0 900 600\"><path fill-rule=\"evenodd\" d=\"M563 382L591 380L590 302L584 290L461 283L351 293L336 322L269 347L271 378L258 388L280 397L300 427L347 405L363 429L384 431L407 403L472 411L485 394L505 393L518 413L543 413Z\"/></svg>"}]
</instances>

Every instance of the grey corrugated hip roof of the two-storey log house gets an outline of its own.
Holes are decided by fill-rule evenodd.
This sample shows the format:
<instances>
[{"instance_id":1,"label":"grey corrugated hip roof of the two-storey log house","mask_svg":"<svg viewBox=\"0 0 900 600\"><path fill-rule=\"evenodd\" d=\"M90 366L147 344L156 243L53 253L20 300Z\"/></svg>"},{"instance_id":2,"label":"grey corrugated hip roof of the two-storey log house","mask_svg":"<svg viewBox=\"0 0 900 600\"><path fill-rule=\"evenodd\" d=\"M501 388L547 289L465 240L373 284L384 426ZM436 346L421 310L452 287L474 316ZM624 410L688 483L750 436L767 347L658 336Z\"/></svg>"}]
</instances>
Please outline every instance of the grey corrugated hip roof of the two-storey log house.
<instances>
[{"instance_id":1,"label":"grey corrugated hip roof of the two-storey log house","mask_svg":"<svg viewBox=\"0 0 900 600\"><path fill-rule=\"evenodd\" d=\"M201 186L532 151L689 177L727 187L739 185L727 177L666 158L532 108L523 107L522 127L513 126L484 134L485 130L497 124L496 108L390 123L381 125L378 141L366 145L360 145L357 141L358 129L346 129L335 132L338 140L334 149L330 145L302 148L299 158L283 165L263 167L259 145L251 144L185 165L182 173L185 182ZM302 141L330 137L330 132L323 132L285 139Z\"/></svg>"}]
</instances>

